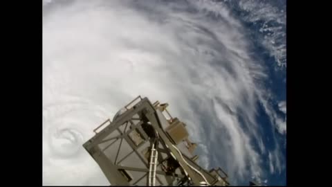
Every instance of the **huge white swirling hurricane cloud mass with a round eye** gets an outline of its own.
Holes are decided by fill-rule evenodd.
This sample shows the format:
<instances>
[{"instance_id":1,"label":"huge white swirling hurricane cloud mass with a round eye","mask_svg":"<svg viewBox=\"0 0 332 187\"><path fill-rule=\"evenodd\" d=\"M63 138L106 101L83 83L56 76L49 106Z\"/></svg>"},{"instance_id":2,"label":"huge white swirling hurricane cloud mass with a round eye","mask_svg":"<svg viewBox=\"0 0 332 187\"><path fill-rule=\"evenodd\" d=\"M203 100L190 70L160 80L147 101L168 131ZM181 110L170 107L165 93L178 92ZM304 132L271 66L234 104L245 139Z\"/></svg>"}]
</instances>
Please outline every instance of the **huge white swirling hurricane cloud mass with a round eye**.
<instances>
[{"instance_id":1,"label":"huge white swirling hurricane cloud mass with a round eye","mask_svg":"<svg viewBox=\"0 0 332 187\"><path fill-rule=\"evenodd\" d=\"M258 103L279 119L264 66L227 8L210 19L199 3L44 2L43 184L107 185L82 143L138 95L169 103L203 166L221 166L234 184L264 178L264 162L284 167L279 145L261 156Z\"/></svg>"}]
</instances>

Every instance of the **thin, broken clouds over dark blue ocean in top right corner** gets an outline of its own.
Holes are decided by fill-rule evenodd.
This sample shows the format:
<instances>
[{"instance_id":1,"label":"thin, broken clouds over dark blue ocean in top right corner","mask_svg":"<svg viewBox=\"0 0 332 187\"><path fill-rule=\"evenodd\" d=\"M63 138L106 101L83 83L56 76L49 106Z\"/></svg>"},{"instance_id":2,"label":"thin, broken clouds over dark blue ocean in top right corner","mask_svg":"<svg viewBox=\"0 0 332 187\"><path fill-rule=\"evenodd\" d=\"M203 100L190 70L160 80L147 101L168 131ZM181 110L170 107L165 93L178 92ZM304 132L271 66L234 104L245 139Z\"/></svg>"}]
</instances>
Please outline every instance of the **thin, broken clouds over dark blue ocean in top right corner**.
<instances>
[{"instance_id":1,"label":"thin, broken clouds over dark blue ocean in top right corner","mask_svg":"<svg viewBox=\"0 0 332 187\"><path fill-rule=\"evenodd\" d=\"M203 14L212 13L217 19L229 18L233 14L229 7L236 5L244 15L241 20L259 26L259 42L275 57L277 66L286 67L286 3L279 2L284 1L190 1ZM240 21L232 20L232 24L239 26Z\"/></svg>"}]
</instances>

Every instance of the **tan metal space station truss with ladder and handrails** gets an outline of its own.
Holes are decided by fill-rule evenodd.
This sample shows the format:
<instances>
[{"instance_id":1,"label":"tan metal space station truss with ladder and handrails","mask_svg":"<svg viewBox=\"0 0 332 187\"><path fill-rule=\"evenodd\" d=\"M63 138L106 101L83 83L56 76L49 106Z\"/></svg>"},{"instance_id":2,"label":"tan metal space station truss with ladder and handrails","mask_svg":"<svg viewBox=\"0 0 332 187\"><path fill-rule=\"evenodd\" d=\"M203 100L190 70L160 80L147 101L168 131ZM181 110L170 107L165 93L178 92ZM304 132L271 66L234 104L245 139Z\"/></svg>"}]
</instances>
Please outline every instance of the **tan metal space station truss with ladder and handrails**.
<instances>
[{"instance_id":1,"label":"tan metal space station truss with ladder and handrails","mask_svg":"<svg viewBox=\"0 0 332 187\"><path fill-rule=\"evenodd\" d=\"M97 127L84 148L115 186L228 186L221 168L196 163L196 143L168 104L138 96Z\"/></svg>"}]
</instances>

